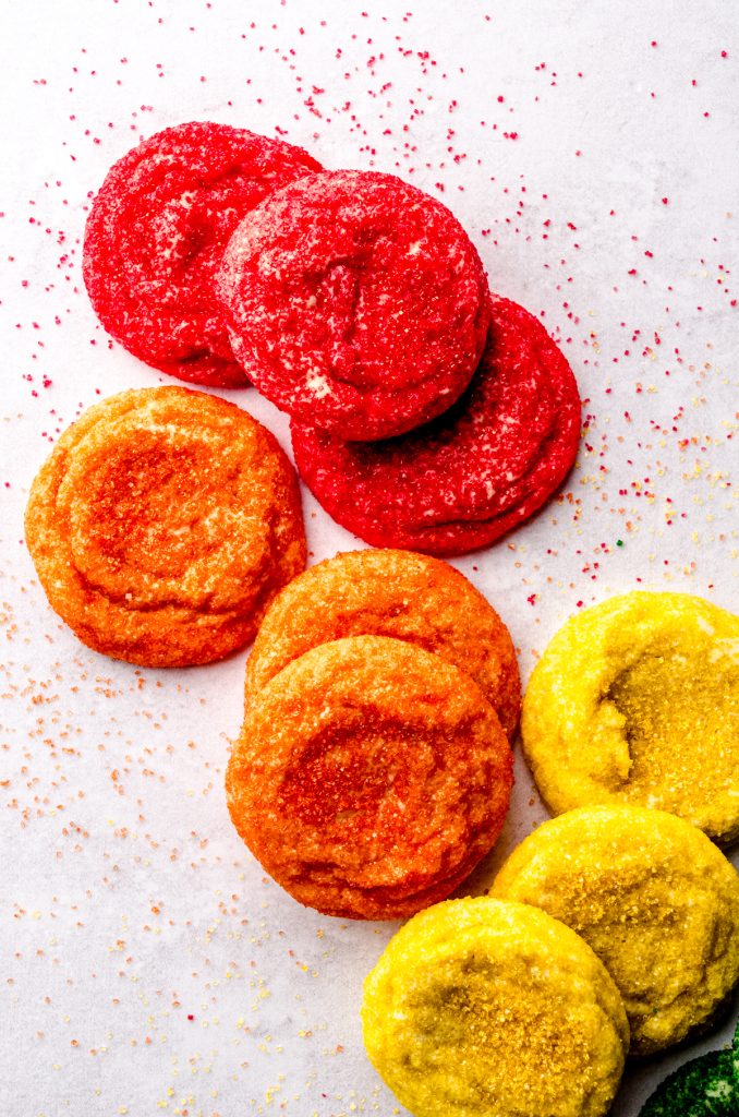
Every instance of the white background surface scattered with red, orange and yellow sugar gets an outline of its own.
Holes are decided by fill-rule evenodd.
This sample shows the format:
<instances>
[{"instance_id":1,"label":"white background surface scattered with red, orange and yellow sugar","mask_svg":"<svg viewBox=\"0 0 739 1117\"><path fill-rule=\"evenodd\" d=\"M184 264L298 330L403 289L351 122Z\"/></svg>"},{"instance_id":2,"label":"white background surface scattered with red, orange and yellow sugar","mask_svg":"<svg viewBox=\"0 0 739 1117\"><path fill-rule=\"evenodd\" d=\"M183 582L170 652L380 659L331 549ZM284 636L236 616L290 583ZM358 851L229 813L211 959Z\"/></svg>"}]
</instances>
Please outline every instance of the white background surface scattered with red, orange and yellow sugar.
<instances>
[{"instance_id":1,"label":"white background surface scattered with red, orange and yellow sugar","mask_svg":"<svg viewBox=\"0 0 739 1117\"><path fill-rule=\"evenodd\" d=\"M246 652L188 671L96 656L50 612L26 553L28 487L58 433L100 397L165 380L95 321L89 194L138 139L201 118L285 136L328 168L399 173L454 210L585 400L559 498L457 562L527 677L567 617L615 592L736 609L739 17L723 0L0 8L0 1107L403 1113L358 1024L394 926L304 910L230 825ZM230 398L287 447L253 390ZM308 495L305 509L311 560L359 545ZM517 773L497 858L544 817ZM630 1069L614 1115L700 1049Z\"/></svg>"}]
</instances>

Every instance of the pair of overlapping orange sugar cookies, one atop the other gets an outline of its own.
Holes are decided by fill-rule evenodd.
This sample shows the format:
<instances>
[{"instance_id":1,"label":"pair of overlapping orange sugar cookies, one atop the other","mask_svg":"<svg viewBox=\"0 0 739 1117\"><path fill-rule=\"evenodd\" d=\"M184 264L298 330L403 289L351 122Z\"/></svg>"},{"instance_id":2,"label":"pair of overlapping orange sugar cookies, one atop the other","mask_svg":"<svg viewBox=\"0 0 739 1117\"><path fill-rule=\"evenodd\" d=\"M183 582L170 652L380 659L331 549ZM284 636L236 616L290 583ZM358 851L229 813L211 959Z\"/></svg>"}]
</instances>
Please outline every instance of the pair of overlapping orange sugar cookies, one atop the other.
<instances>
[{"instance_id":1,"label":"pair of overlapping orange sugar cookies, one atop the other","mask_svg":"<svg viewBox=\"0 0 739 1117\"><path fill-rule=\"evenodd\" d=\"M498 838L519 701L508 630L463 575L404 551L337 555L267 611L227 774L231 818L300 903L412 915Z\"/></svg>"}]
</instances>

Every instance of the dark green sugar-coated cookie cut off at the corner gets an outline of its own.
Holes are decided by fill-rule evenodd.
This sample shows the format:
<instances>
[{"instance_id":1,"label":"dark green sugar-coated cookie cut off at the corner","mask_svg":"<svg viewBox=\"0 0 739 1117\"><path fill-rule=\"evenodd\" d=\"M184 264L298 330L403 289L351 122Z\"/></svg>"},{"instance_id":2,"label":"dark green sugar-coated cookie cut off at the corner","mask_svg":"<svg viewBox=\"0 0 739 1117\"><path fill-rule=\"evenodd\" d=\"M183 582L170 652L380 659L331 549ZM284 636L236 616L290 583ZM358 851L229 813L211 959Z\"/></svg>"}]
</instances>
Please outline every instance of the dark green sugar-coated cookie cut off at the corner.
<instances>
[{"instance_id":1,"label":"dark green sugar-coated cookie cut off at the corner","mask_svg":"<svg viewBox=\"0 0 739 1117\"><path fill-rule=\"evenodd\" d=\"M737 1117L739 1068L732 1051L709 1051L661 1082L640 1117Z\"/></svg>"}]
</instances>

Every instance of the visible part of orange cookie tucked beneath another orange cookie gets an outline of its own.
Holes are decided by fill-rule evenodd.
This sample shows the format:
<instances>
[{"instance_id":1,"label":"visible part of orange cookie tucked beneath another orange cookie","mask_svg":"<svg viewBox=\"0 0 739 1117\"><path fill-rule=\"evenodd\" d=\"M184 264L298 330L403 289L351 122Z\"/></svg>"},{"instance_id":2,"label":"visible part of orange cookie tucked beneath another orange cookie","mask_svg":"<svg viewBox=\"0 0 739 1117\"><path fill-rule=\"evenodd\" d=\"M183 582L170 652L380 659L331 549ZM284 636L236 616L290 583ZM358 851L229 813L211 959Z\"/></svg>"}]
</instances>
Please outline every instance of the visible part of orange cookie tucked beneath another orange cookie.
<instances>
[{"instance_id":1,"label":"visible part of orange cookie tucked beneath another orange cookie","mask_svg":"<svg viewBox=\"0 0 739 1117\"><path fill-rule=\"evenodd\" d=\"M470 675L512 736L520 678L510 633L459 571L409 551L352 551L309 567L277 595L247 662L247 701L291 660L348 636L388 636Z\"/></svg>"}]
</instances>

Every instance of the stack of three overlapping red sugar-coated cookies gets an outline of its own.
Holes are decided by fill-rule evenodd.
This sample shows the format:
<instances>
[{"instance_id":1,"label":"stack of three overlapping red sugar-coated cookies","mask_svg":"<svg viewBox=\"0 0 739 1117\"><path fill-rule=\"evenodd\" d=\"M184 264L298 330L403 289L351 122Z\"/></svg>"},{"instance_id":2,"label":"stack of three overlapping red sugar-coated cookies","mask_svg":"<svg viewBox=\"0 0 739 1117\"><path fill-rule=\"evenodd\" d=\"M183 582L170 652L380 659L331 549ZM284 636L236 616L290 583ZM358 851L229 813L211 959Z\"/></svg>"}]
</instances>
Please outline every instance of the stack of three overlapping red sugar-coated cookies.
<instances>
[{"instance_id":1,"label":"stack of three overlapping red sugar-coated cookies","mask_svg":"<svg viewBox=\"0 0 739 1117\"><path fill-rule=\"evenodd\" d=\"M490 295L453 214L393 175L323 171L227 125L167 128L109 172L84 273L136 356L198 383L251 381L286 411L306 484L376 546L483 546L575 459L566 360Z\"/></svg>"}]
</instances>

